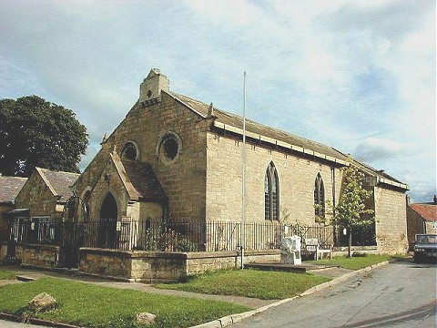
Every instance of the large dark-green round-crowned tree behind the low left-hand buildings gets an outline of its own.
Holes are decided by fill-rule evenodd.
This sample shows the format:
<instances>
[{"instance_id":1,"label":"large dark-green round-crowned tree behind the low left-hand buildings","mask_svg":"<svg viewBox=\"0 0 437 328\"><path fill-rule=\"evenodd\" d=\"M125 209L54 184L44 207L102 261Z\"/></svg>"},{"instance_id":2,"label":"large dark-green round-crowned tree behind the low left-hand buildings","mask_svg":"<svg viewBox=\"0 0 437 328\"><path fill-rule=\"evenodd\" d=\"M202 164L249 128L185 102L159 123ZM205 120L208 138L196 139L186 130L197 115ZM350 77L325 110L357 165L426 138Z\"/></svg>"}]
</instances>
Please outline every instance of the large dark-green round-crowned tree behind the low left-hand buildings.
<instances>
[{"instance_id":1,"label":"large dark-green round-crowned tree behind the low left-hand buildings","mask_svg":"<svg viewBox=\"0 0 437 328\"><path fill-rule=\"evenodd\" d=\"M0 100L0 173L28 177L35 167L78 172L86 127L67 108L38 96Z\"/></svg>"}]
</instances>

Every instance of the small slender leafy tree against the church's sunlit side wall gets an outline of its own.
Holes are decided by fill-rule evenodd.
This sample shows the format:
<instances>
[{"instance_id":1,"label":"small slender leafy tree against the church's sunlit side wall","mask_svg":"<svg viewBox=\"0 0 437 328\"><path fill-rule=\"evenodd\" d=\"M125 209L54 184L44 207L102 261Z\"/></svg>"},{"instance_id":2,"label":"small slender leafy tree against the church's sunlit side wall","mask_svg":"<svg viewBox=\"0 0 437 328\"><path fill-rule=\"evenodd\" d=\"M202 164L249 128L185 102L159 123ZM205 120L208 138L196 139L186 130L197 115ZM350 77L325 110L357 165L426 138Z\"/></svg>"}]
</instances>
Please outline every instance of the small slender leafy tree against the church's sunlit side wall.
<instances>
[{"instance_id":1,"label":"small slender leafy tree against the church's sunlit side wall","mask_svg":"<svg viewBox=\"0 0 437 328\"><path fill-rule=\"evenodd\" d=\"M348 230L351 257L352 230L357 227L370 226L374 222L373 210L366 208L366 200L371 191L362 186L364 174L352 164L344 170L342 192L339 205L332 209L332 223Z\"/></svg>"}]
</instances>

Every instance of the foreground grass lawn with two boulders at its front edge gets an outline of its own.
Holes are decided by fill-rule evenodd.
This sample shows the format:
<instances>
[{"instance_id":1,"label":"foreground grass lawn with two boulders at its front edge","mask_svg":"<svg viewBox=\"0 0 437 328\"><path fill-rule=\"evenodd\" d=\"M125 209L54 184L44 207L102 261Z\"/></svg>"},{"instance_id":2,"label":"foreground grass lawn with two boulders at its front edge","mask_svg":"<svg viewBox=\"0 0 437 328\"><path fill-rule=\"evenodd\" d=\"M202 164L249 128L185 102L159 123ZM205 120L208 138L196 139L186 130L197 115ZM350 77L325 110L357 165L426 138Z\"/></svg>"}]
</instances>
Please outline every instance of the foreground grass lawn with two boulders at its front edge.
<instances>
[{"instance_id":1,"label":"foreground grass lawn with two boulders at its front edge","mask_svg":"<svg viewBox=\"0 0 437 328\"><path fill-rule=\"evenodd\" d=\"M56 310L35 317L86 327L136 327L136 313L157 314L150 327L188 327L232 313L250 310L229 302L164 296L147 292L95 286L83 282L46 278L0 288L0 312L21 314L38 293L52 295Z\"/></svg>"}]
</instances>

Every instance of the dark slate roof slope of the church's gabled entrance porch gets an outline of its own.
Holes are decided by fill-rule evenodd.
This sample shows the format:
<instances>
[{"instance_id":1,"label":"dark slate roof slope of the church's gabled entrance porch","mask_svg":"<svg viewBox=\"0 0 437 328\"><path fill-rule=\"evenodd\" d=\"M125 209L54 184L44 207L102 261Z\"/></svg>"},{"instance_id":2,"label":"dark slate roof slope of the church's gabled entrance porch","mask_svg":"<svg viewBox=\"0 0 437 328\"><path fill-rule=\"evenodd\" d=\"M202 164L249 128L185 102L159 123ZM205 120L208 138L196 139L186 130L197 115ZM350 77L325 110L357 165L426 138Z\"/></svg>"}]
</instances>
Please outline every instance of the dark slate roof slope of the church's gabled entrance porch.
<instances>
[{"instance_id":1,"label":"dark slate roof slope of the church's gabled entrance porch","mask_svg":"<svg viewBox=\"0 0 437 328\"><path fill-rule=\"evenodd\" d=\"M122 160L121 162L140 199L168 199L150 164L133 160Z\"/></svg>"}]
</instances>

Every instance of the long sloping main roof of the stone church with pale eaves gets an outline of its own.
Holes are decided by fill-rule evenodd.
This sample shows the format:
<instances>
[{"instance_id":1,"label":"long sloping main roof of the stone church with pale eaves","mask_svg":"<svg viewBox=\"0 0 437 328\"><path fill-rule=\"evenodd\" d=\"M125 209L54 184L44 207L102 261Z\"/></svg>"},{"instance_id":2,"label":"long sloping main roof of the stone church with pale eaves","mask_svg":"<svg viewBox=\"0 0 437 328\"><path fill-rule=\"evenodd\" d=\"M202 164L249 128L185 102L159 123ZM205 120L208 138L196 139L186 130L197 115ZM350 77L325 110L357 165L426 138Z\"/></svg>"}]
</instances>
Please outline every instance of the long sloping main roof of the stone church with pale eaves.
<instances>
[{"instance_id":1,"label":"long sloping main roof of the stone church with pale eaves","mask_svg":"<svg viewBox=\"0 0 437 328\"><path fill-rule=\"evenodd\" d=\"M213 108L213 110L211 110L211 105L207 105L191 97L183 96L171 91L168 91L167 93L186 107L196 112L200 117L215 118L215 127L224 128L236 133L242 132L243 118L239 115L226 112L219 108ZM320 159L326 159L332 162L340 163L341 165L349 165L349 163L352 161L355 166L359 167L367 174L376 177L377 182L389 184L403 190L408 190L407 185L398 179L394 179L384 171L373 169L361 161L350 159L348 155L342 153L340 150L323 145L317 141L313 141L308 138L302 138L289 132L282 131L278 128L271 128L248 118L246 118L246 131L248 138L266 141L277 146L290 148L304 154L313 155Z\"/></svg>"}]
</instances>

